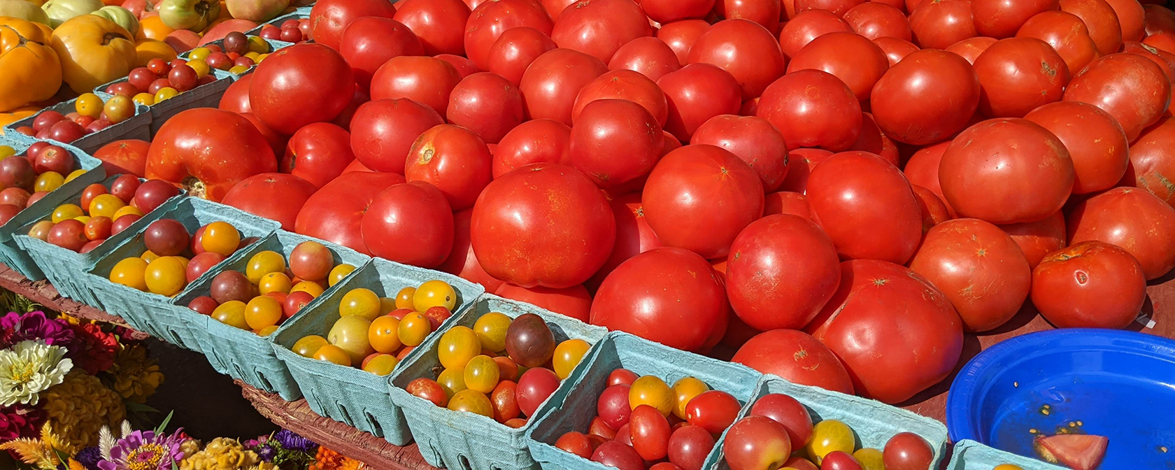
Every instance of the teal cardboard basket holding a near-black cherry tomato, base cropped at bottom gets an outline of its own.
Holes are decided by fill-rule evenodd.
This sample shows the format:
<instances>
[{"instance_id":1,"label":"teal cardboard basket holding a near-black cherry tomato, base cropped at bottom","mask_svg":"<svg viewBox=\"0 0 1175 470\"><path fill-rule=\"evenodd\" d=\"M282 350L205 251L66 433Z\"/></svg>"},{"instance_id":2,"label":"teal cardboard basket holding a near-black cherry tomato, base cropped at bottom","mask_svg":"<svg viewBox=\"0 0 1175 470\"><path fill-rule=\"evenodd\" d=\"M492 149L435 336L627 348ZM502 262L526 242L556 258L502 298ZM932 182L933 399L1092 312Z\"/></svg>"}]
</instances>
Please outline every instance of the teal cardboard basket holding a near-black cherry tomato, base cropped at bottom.
<instances>
[{"instance_id":1,"label":"teal cardboard basket holding a near-black cherry tomato, base cropped at bottom","mask_svg":"<svg viewBox=\"0 0 1175 470\"><path fill-rule=\"evenodd\" d=\"M458 315L456 321L444 330L456 325L472 328L482 315L491 311L505 314L511 318L523 314L536 314L543 317L550 327L557 343L578 338L593 344L595 348L607 334L607 330L602 327L585 324L529 303L490 294L483 295L472 308ZM443 331L441 333L443 335ZM397 367L391 377L391 400L404 409L408 428L412 430L412 437L416 438L416 444L421 455L424 456L424 461L434 466L454 470L537 468L535 459L531 458L530 449L526 446L526 431L535 424L533 417L525 427L508 428L482 415L437 407L432 402L412 396L404 390L404 387L416 378L437 378L441 370L437 349L442 335L432 335L422 343L418 348L421 354L414 354L410 360ZM564 396L588 369L589 356L591 356L591 350L584 355L584 360L559 384L559 388L535 410L535 416L543 416L543 414L563 404ZM592 409L595 410L595 402Z\"/></svg>"}]
</instances>

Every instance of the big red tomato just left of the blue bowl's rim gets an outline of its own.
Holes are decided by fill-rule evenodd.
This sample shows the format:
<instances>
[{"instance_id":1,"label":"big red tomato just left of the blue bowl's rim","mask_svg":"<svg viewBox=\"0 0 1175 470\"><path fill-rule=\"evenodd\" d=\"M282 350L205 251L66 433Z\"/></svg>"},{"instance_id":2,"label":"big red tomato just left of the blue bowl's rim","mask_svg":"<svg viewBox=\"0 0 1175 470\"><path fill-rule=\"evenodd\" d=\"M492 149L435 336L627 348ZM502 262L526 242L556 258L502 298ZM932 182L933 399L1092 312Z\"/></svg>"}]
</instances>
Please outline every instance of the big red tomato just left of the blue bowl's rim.
<instances>
[{"instance_id":1,"label":"big red tomato just left of the blue bowl's rim","mask_svg":"<svg viewBox=\"0 0 1175 470\"><path fill-rule=\"evenodd\" d=\"M951 374L962 323L939 289L885 261L840 269L840 289L806 330L844 362L858 394L900 403Z\"/></svg>"}]
</instances>

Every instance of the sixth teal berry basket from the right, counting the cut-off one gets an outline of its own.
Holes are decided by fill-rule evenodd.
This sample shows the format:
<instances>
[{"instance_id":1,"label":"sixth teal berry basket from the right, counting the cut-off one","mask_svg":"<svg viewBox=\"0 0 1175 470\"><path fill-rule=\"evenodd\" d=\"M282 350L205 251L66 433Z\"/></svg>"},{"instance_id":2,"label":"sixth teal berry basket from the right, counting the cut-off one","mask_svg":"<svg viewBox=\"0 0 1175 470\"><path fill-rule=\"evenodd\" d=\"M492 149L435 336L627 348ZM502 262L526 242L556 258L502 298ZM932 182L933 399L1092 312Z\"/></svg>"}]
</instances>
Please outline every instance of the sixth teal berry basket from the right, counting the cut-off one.
<instances>
[{"instance_id":1,"label":"sixth teal berry basket from the right, counting the cut-off one","mask_svg":"<svg viewBox=\"0 0 1175 470\"><path fill-rule=\"evenodd\" d=\"M289 260L294 247L303 242L317 242L325 246L334 257L334 266L350 264L360 268L371 261L370 256L347 247L311 239L306 235L277 230L257 243L249 246L248 249L242 249L229 256L220 266L220 271L235 270L243 274L249 264L249 260L254 255L267 250L280 253L286 260ZM188 310L183 313L184 315L200 315L188 309L187 306L196 297L208 295L212 281L212 277L203 277L199 282L194 282L182 295L173 300L173 308ZM328 288L323 295L329 296L342 283ZM208 357L208 362L213 364L216 371L248 383L254 388L281 395L286 401L295 401L302 397L302 391L298 389L297 383L294 382L294 377L290 376L286 363L277 360L277 354L274 352L271 341L274 334L267 337L257 336L253 331L221 323L216 318L208 318L207 329L203 331L193 330L193 334L197 338L200 351Z\"/></svg>"}]
</instances>

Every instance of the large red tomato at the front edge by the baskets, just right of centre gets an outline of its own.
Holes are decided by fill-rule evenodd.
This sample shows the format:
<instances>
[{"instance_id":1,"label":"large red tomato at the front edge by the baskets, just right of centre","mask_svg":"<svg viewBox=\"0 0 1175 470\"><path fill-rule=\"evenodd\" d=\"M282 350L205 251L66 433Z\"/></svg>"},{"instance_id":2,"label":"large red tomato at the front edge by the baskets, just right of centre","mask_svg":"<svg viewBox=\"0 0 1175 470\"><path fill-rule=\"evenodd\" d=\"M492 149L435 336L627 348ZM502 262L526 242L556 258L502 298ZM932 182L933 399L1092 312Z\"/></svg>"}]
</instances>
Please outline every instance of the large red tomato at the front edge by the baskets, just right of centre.
<instances>
[{"instance_id":1,"label":"large red tomato at the front edge by the baskets, just right of centre","mask_svg":"<svg viewBox=\"0 0 1175 470\"><path fill-rule=\"evenodd\" d=\"M654 248L620 263L591 304L591 324L686 350L704 349L726 330L726 293L701 256Z\"/></svg>"}]
</instances>

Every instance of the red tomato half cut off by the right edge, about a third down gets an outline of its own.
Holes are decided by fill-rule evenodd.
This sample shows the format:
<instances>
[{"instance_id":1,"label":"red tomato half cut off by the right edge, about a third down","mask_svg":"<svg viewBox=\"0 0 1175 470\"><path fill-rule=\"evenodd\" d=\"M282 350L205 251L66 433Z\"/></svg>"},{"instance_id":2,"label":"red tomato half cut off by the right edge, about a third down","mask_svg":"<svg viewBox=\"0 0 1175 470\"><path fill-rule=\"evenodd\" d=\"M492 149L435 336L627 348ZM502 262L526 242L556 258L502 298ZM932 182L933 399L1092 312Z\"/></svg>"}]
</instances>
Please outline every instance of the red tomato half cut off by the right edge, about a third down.
<instances>
[{"instance_id":1,"label":"red tomato half cut off by the right edge, about a third down","mask_svg":"<svg viewBox=\"0 0 1175 470\"><path fill-rule=\"evenodd\" d=\"M1175 204L1175 188L1170 186L1175 181L1175 120L1163 116L1143 130L1130 146L1129 155L1123 183L1146 189L1168 204Z\"/></svg>"}]
</instances>

